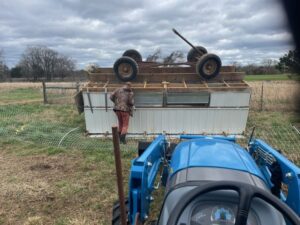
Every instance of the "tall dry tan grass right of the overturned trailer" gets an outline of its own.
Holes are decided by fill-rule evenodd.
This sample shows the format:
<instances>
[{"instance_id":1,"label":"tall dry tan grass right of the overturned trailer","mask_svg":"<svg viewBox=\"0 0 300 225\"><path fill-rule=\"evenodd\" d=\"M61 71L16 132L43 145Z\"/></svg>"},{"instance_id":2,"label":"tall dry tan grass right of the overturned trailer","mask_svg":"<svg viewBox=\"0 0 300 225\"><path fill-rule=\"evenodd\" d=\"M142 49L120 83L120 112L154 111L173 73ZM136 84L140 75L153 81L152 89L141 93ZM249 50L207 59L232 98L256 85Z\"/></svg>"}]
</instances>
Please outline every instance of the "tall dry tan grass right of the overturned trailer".
<instances>
[{"instance_id":1,"label":"tall dry tan grass right of the overturned trailer","mask_svg":"<svg viewBox=\"0 0 300 225\"><path fill-rule=\"evenodd\" d=\"M288 110L297 109L300 86L296 81L253 81L250 107L253 110ZM263 88L262 88L263 87ZM263 93L262 93L263 89Z\"/></svg>"}]
</instances>

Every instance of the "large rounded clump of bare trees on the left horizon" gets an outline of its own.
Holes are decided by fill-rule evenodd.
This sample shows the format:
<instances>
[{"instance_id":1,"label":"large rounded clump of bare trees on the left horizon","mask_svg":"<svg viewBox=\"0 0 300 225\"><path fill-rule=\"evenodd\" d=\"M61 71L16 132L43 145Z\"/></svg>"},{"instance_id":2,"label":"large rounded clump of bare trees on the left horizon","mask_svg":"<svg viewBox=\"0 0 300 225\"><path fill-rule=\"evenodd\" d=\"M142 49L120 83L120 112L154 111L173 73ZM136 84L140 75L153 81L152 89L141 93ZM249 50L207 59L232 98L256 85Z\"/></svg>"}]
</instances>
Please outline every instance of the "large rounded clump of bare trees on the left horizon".
<instances>
[{"instance_id":1,"label":"large rounded clump of bare trees on the left horizon","mask_svg":"<svg viewBox=\"0 0 300 225\"><path fill-rule=\"evenodd\" d=\"M51 81L54 77L64 79L75 69L72 59L44 46L27 47L21 56L19 66L22 73L32 77L34 81L39 79Z\"/></svg>"}]
</instances>

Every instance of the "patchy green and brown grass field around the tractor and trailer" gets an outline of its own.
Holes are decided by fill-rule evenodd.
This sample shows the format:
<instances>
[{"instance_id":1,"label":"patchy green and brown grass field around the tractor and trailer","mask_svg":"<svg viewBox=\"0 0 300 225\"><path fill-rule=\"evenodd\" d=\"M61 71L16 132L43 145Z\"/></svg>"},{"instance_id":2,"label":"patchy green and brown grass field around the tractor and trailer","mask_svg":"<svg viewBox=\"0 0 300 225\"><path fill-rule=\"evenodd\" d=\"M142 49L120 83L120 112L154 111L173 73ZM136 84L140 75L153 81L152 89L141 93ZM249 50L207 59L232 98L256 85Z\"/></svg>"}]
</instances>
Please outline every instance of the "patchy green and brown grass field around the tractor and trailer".
<instances>
[{"instance_id":1,"label":"patchy green and brown grass field around the tractor and trailer","mask_svg":"<svg viewBox=\"0 0 300 225\"><path fill-rule=\"evenodd\" d=\"M0 104L41 97L39 87L1 92ZM299 146L300 140L289 143L282 139L287 132L278 130L290 124L300 124L291 110L252 111L248 133L255 125L266 128L257 134L276 139L277 148L286 147L284 153L300 164L293 147ZM73 128L78 129L58 147L61 137ZM111 223L111 207L117 199L112 143L86 137L84 130L83 115L72 105L0 105L0 225ZM121 146L126 190L136 147L136 140ZM159 206L153 207L152 218Z\"/></svg>"}]
</instances>

